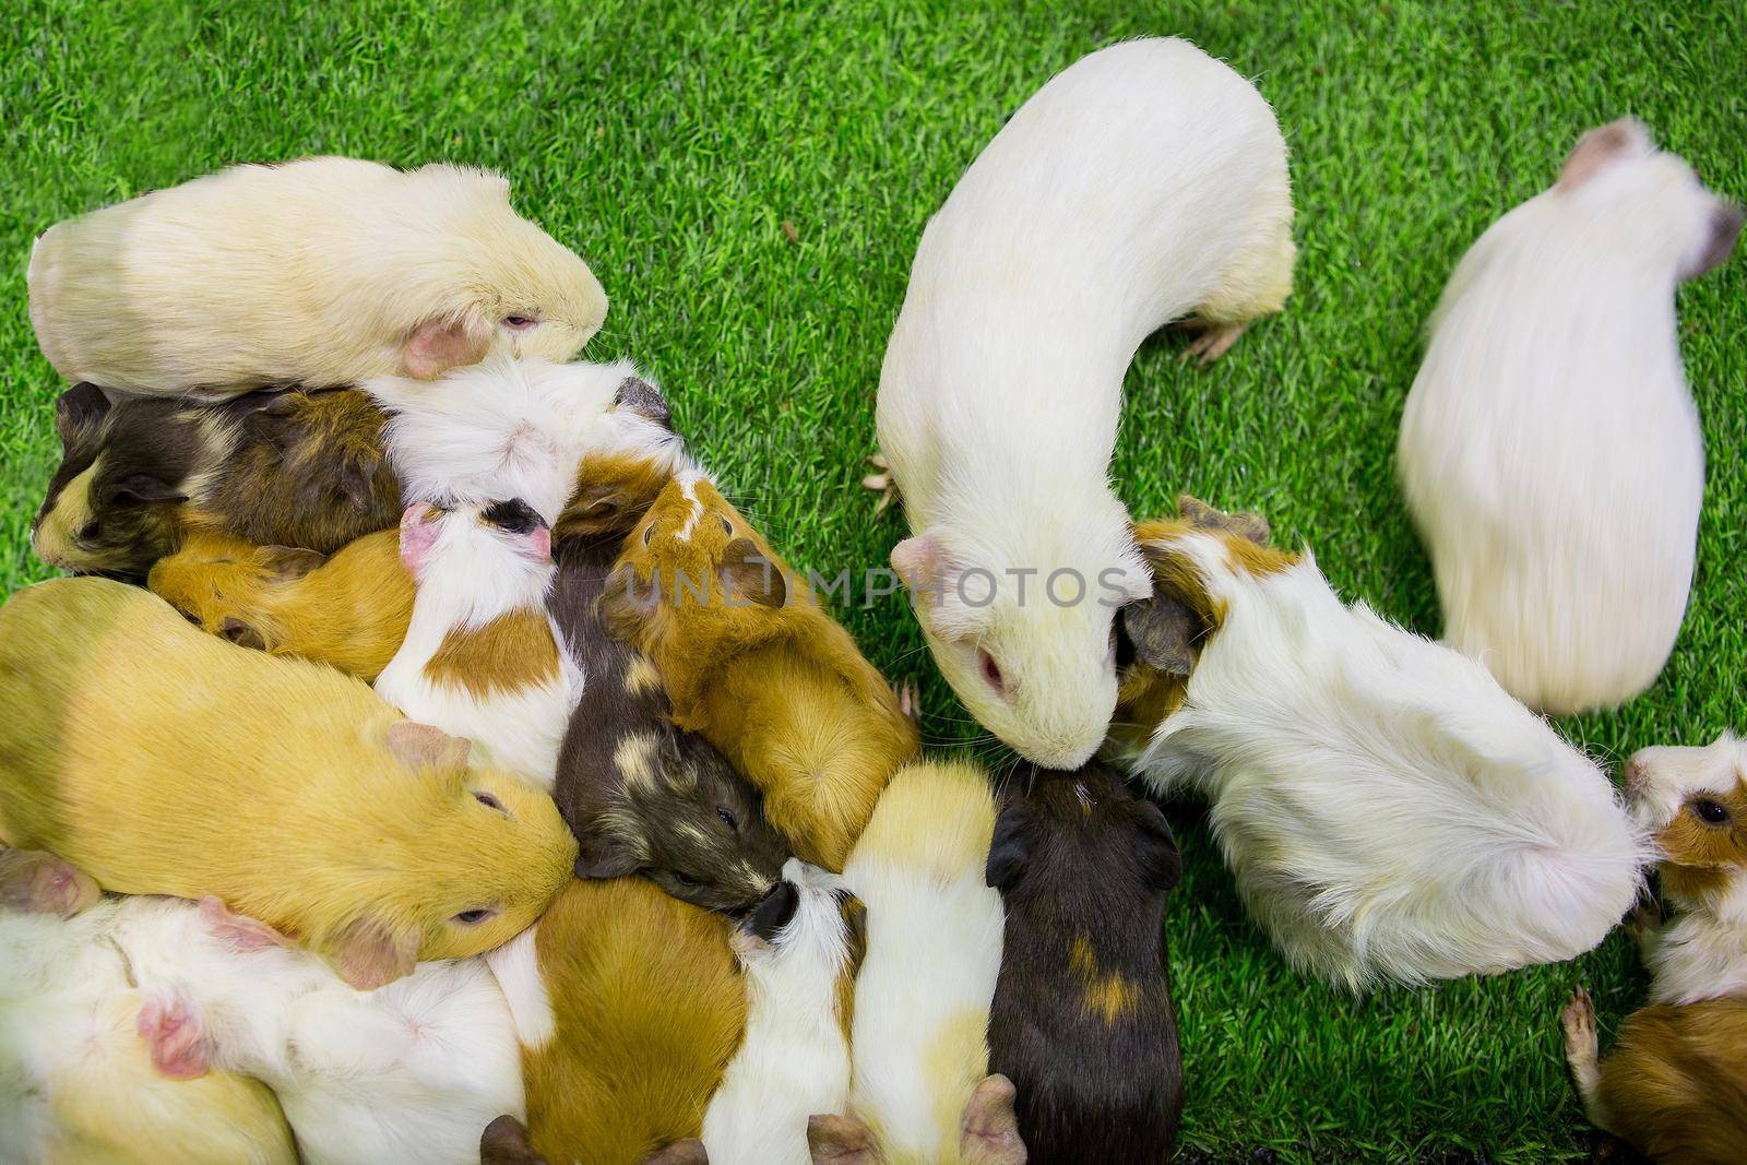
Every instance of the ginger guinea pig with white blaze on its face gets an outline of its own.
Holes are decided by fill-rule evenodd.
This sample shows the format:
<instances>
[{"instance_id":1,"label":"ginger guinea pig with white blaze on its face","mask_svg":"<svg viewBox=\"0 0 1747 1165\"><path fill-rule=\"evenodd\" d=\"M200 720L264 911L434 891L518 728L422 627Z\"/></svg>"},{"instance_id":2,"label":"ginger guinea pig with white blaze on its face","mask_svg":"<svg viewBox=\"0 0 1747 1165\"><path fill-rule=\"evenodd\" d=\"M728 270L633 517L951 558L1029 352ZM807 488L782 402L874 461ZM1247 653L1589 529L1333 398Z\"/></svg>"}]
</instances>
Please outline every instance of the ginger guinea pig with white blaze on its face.
<instances>
[{"instance_id":1,"label":"ginger guinea pig with white blaze on its face","mask_svg":"<svg viewBox=\"0 0 1747 1165\"><path fill-rule=\"evenodd\" d=\"M886 781L915 755L915 725L708 477L685 472L662 489L601 611L655 664L674 723L763 791L795 854L842 870Z\"/></svg>"}]
</instances>

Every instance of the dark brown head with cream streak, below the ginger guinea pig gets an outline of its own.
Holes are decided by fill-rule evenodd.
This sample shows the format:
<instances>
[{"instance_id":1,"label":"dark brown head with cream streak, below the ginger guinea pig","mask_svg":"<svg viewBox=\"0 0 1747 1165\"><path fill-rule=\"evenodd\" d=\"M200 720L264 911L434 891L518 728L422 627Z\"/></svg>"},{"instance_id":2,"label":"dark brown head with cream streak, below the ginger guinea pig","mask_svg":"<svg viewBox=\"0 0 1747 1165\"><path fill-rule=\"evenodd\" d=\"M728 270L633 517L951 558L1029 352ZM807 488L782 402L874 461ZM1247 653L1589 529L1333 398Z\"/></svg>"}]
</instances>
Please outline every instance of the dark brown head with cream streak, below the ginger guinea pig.
<instances>
[{"instance_id":1,"label":"dark brown head with cream streak, below the ginger guinea pig","mask_svg":"<svg viewBox=\"0 0 1747 1165\"><path fill-rule=\"evenodd\" d=\"M680 901L737 913L770 893L790 842L756 786L702 737L632 732L613 749L618 781L578 816L577 877L643 873Z\"/></svg>"}]
</instances>

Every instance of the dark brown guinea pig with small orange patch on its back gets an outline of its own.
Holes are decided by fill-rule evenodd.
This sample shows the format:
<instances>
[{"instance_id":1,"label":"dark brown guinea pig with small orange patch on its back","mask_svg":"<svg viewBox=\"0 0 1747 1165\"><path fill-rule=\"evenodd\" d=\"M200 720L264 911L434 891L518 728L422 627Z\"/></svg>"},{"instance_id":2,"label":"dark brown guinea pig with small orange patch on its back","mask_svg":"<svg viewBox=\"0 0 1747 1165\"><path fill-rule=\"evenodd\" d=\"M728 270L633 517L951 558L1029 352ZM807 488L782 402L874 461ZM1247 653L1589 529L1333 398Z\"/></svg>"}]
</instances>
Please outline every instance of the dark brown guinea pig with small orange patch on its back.
<instances>
[{"instance_id":1,"label":"dark brown guinea pig with small orange patch on its back","mask_svg":"<svg viewBox=\"0 0 1747 1165\"><path fill-rule=\"evenodd\" d=\"M1006 933L989 1071L1019 1090L1031 1165L1162 1165L1183 1113L1165 893L1183 858L1165 816L1108 769L1020 770L989 847Z\"/></svg>"}]
</instances>

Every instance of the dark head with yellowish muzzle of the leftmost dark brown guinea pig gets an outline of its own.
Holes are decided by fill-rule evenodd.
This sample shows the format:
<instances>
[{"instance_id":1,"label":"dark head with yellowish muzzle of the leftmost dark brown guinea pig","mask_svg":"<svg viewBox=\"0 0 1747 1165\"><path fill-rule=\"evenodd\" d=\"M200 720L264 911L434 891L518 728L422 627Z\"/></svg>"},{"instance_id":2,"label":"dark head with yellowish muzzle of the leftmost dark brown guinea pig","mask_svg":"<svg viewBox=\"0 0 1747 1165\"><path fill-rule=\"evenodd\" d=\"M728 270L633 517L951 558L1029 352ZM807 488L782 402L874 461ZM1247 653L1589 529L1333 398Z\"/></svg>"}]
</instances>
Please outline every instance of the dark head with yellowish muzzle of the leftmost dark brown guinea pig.
<instances>
[{"instance_id":1,"label":"dark head with yellowish muzzle of the leftmost dark brown guinea pig","mask_svg":"<svg viewBox=\"0 0 1747 1165\"><path fill-rule=\"evenodd\" d=\"M75 384L54 407L61 466L30 526L49 566L143 578L180 533L183 479L199 449L192 419L168 402L112 405L94 384Z\"/></svg>"}]
</instances>

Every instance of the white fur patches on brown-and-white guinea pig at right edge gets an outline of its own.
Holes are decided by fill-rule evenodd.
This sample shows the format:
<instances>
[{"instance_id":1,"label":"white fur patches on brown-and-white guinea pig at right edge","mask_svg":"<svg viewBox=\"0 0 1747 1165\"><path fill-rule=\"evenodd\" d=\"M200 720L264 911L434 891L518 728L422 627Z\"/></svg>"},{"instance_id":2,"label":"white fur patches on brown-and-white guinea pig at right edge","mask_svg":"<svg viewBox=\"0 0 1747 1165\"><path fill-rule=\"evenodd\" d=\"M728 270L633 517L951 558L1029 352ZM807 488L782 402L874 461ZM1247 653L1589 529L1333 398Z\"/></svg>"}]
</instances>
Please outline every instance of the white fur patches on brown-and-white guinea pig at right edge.
<instances>
[{"instance_id":1,"label":"white fur patches on brown-and-white guinea pig at right edge","mask_svg":"<svg viewBox=\"0 0 1747 1165\"><path fill-rule=\"evenodd\" d=\"M1703 748L1646 748L1626 763L1632 816L1649 831L1682 812L1688 798L1717 796L1747 782L1747 744L1724 732ZM1740 828L1738 824L1735 828ZM1663 900L1679 913L1640 936L1651 1003L1688 1004L1747 994L1747 870L1733 866L1721 887Z\"/></svg>"}]
</instances>

